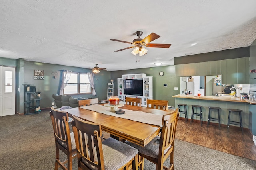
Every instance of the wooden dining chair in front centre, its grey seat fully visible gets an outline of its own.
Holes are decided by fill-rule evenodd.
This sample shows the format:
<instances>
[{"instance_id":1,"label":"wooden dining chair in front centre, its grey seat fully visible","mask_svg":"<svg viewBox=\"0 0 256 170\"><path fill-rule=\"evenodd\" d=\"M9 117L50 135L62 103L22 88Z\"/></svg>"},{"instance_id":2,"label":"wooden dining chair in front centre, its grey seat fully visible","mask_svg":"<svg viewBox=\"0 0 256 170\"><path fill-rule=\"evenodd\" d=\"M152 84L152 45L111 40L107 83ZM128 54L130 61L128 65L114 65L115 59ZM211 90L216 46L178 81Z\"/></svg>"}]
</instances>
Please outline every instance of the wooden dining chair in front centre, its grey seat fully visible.
<instances>
[{"instance_id":1,"label":"wooden dining chair in front centre, its grey seat fully visible","mask_svg":"<svg viewBox=\"0 0 256 170\"><path fill-rule=\"evenodd\" d=\"M102 141L101 125L73 115L79 170L138 170L138 150L113 138Z\"/></svg>"}]
</instances>

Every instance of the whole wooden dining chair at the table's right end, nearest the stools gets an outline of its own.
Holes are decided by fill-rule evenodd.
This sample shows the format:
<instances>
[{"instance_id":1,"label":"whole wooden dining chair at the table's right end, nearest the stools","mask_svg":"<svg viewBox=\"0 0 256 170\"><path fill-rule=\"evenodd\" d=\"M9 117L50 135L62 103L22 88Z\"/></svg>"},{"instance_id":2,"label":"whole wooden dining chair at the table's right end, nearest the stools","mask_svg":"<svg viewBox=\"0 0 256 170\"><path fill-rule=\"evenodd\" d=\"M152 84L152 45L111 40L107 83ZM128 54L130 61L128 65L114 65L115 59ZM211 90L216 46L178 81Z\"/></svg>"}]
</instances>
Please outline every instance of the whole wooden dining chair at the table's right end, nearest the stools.
<instances>
[{"instance_id":1,"label":"whole wooden dining chair at the table's right end, nearest the stools","mask_svg":"<svg viewBox=\"0 0 256 170\"><path fill-rule=\"evenodd\" d=\"M174 139L176 133L176 127L178 123L179 113L176 109L173 113L163 116L163 127L160 136L156 136L150 143L145 147L141 147L129 141L125 141L128 145L139 150L138 155L140 156L140 170L144 168L144 158L150 162L156 164L156 170L174 169ZM165 160L170 155L170 166L164 166Z\"/></svg>"}]
</instances>

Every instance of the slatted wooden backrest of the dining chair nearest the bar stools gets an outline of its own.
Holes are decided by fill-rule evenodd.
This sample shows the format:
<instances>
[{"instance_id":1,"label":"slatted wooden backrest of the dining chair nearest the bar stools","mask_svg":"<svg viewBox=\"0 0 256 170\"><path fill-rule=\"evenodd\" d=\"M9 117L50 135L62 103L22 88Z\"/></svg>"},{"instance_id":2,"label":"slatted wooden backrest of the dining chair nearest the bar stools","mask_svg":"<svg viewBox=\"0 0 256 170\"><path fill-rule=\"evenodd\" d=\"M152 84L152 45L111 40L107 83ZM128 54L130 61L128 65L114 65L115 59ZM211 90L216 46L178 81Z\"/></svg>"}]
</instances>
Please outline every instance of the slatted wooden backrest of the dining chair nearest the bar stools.
<instances>
[{"instance_id":1,"label":"slatted wooden backrest of the dining chair nearest the bar stools","mask_svg":"<svg viewBox=\"0 0 256 170\"><path fill-rule=\"evenodd\" d=\"M168 155L170 155L170 153L173 152L178 119L178 109L176 109L173 113L163 116L163 128L161 131L159 142L158 162L159 160L166 160L166 156L168 157ZM171 156L173 156L173 154L171 154Z\"/></svg>"}]
</instances>

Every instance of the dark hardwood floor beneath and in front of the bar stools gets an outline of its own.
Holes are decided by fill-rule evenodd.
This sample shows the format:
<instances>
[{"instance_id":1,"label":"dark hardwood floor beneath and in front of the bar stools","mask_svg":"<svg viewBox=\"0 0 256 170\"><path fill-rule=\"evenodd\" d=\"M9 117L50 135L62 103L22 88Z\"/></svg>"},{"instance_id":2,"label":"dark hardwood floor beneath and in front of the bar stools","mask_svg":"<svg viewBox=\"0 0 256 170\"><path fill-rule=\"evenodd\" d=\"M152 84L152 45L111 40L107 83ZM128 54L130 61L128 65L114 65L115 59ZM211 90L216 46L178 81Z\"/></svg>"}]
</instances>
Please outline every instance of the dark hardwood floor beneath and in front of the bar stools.
<instances>
[{"instance_id":1,"label":"dark hardwood floor beneath and in front of the bar stools","mask_svg":"<svg viewBox=\"0 0 256 170\"><path fill-rule=\"evenodd\" d=\"M181 118L175 138L256 161L256 145L250 131L244 129L242 135L240 127L230 126L227 133L227 126L222 126L219 130L216 123L210 123L209 127L206 122L202 127L199 122L190 125L190 120L185 124L185 119Z\"/></svg>"}]
</instances>

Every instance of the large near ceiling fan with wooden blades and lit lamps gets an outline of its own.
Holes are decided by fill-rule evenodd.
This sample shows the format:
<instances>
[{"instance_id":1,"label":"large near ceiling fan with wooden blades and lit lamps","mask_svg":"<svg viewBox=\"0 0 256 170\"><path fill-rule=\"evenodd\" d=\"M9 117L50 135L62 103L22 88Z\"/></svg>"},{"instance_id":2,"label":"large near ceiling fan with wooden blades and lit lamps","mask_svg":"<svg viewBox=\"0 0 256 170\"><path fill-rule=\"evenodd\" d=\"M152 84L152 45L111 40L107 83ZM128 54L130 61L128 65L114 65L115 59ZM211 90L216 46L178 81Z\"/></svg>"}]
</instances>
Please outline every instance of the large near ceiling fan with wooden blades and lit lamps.
<instances>
[{"instance_id":1,"label":"large near ceiling fan with wooden blades and lit lamps","mask_svg":"<svg viewBox=\"0 0 256 170\"><path fill-rule=\"evenodd\" d=\"M112 41L118 41L118 42L128 43L128 44L132 44L133 45L131 47L127 47L127 48L124 48L124 49L116 50L115 52L126 50L126 49L130 49L130 48L134 48L133 51L132 51L132 54L136 55L136 54L139 53L139 55L142 56L142 55L144 55L144 54L146 54L148 52L148 50L145 49L144 47L169 48L171 46L171 44L152 44L152 43L150 43L151 41L154 41L155 39L158 39L160 37L156 33L151 33L150 35L146 36L144 39L140 38L140 36L143 34L142 31L136 31L135 34L139 38L134 39L132 41L132 43L128 42L128 41L118 40L118 39L110 39Z\"/></svg>"}]
</instances>

